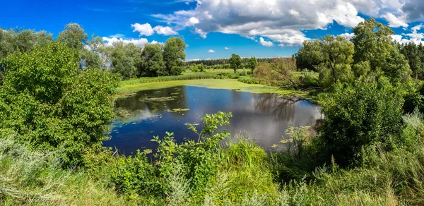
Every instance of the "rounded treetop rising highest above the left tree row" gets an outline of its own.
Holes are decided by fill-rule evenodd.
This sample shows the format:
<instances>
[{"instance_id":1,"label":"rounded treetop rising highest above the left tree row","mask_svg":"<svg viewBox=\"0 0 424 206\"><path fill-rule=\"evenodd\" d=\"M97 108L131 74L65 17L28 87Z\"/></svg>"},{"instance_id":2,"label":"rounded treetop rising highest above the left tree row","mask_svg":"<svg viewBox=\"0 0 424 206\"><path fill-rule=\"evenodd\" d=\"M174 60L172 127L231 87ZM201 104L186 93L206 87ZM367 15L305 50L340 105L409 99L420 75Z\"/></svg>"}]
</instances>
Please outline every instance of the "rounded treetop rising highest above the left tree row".
<instances>
[{"instance_id":1,"label":"rounded treetop rising highest above the left tree row","mask_svg":"<svg viewBox=\"0 0 424 206\"><path fill-rule=\"evenodd\" d=\"M88 41L88 35L78 23L69 23L57 37L59 42L66 42L69 48L81 49Z\"/></svg>"}]
</instances>

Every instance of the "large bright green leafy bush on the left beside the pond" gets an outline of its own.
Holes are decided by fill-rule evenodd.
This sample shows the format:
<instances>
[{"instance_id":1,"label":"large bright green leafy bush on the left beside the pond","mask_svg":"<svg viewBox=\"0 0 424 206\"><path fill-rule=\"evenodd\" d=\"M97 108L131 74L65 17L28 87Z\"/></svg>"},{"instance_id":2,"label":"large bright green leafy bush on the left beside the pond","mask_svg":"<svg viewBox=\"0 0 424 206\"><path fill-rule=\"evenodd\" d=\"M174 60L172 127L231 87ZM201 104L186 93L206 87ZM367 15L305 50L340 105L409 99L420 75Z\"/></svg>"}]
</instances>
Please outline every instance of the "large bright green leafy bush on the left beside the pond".
<instances>
[{"instance_id":1,"label":"large bright green leafy bush on the left beside the pond","mask_svg":"<svg viewBox=\"0 0 424 206\"><path fill-rule=\"evenodd\" d=\"M83 163L85 151L101 146L114 116L117 78L81 71L78 59L78 50L52 42L1 60L8 72L0 87L0 133L13 133L33 150L60 150L65 166Z\"/></svg>"}]
</instances>

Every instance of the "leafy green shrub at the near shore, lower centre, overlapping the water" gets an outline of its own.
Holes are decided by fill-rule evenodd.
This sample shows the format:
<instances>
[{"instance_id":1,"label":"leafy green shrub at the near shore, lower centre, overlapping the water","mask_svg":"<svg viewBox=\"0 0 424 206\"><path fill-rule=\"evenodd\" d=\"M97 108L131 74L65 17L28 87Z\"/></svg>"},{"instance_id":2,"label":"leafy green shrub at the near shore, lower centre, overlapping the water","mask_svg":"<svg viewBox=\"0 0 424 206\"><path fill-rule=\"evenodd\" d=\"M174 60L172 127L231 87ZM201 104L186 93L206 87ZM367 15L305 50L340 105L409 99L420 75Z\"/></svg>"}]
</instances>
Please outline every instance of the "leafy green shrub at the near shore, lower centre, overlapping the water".
<instances>
[{"instance_id":1,"label":"leafy green shrub at the near shore, lower centre, overlapping the water","mask_svg":"<svg viewBox=\"0 0 424 206\"><path fill-rule=\"evenodd\" d=\"M217 172L216 148L220 140L228 137L225 131L216 132L218 126L227 126L231 113L218 112L206 114L204 128L198 132L196 125L189 124L189 129L198 133L199 140L189 140L182 144L175 143L173 133L160 140L155 136L152 141L158 143L155 153L155 166L148 163L145 154L138 152L136 157L122 157L119 166L112 172L112 182L117 188L132 194L170 194L175 185L169 178L177 178L174 172L184 176L193 193L204 195L205 187L211 183L211 178ZM184 171L184 172L182 172ZM180 179L179 179L180 180ZM184 181L182 180L182 181Z\"/></svg>"}]
</instances>

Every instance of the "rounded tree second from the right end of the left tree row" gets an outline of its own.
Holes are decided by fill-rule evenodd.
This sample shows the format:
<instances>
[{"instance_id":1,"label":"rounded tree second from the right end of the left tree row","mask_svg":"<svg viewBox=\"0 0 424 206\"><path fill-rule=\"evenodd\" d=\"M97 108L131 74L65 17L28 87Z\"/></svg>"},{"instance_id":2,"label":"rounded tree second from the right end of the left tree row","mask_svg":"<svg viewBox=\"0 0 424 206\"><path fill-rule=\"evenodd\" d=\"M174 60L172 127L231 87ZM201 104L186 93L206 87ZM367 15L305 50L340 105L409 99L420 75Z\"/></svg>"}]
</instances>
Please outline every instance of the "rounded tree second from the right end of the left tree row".
<instances>
[{"instance_id":1,"label":"rounded tree second from the right end of the left tree row","mask_svg":"<svg viewBox=\"0 0 424 206\"><path fill-rule=\"evenodd\" d=\"M139 67L139 76L160 76L167 75L165 62L163 61L162 45L146 44L141 52L143 63Z\"/></svg>"}]
</instances>

